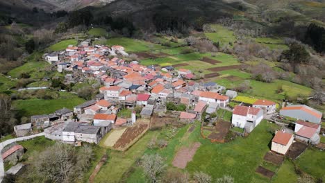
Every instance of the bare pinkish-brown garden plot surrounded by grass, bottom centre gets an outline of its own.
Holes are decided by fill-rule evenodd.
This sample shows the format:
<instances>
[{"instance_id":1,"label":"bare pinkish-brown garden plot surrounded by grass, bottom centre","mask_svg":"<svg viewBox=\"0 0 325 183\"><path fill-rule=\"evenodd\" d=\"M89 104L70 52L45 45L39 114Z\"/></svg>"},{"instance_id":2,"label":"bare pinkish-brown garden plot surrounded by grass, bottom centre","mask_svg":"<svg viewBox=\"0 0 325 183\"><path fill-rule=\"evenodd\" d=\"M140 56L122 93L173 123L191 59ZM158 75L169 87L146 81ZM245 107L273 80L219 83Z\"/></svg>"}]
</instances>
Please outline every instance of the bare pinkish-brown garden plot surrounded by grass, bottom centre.
<instances>
[{"instance_id":1,"label":"bare pinkish-brown garden plot surrounded by grass, bottom centre","mask_svg":"<svg viewBox=\"0 0 325 183\"><path fill-rule=\"evenodd\" d=\"M173 166L177 168L185 168L188 162L191 162L197 149L201 146L201 143L193 143L190 148L181 148L176 153L174 160L172 162Z\"/></svg>"}]
</instances>

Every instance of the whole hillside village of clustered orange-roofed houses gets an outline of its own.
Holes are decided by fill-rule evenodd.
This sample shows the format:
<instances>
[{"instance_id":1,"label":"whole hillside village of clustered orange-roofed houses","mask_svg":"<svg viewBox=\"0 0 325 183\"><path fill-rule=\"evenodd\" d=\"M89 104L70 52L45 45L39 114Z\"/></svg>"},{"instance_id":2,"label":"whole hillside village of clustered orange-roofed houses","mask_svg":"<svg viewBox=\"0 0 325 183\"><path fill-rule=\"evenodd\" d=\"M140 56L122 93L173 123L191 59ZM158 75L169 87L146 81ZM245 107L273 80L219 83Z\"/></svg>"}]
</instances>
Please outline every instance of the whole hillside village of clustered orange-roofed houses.
<instances>
[{"instance_id":1,"label":"whole hillside village of clustered orange-roofed houses","mask_svg":"<svg viewBox=\"0 0 325 183\"><path fill-rule=\"evenodd\" d=\"M247 137L265 119L280 127L272 139L268 157L280 156L281 159L284 155L298 157L308 144L317 146L324 135L321 132L322 112L307 105L284 102L278 110L278 103L261 98L253 105L238 103L232 108L228 104L237 92L226 90L215 82L194 80L195 75L189 69L146 67L137 60L124 60L128 55L123 46L92 46L90 40L68 46L65 51L44 55L44 62L65 73L65 83L92 78L102 87L95 98L75 106L74 110L63 108L53 114L31 116L31 123L15 126L17 137L31 135L35 130L44 131L44 137L53 141L82 146L82 143L99 144L103 139L104 143L110 141L107 142L110 148L124 151L163 119L183 124L202 121L201 136L210 139L211 143L226 143L229 131ZM231 113L231 123L218 119L216 114L220 110L224 114ZM122 112L127 114L119 115ZM288 128L283 119L293 121L294 127ZM117 139L108 135L112 130L121 129L123 132ZM14 143L1 153L4 162L17 164L24 147ZM274 175L263 167L258 171L266 176L269 172Z\"/></svg>"}]
</instances>

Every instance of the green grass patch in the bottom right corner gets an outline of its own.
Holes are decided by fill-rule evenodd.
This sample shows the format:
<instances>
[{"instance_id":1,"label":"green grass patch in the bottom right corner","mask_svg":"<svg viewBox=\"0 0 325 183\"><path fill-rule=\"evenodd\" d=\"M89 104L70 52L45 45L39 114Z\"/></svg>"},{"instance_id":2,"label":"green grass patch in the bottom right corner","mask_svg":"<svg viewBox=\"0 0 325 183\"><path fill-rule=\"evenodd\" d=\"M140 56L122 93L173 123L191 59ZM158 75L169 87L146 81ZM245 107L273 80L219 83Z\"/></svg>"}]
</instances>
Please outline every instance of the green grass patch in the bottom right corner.
<instances>
[{"instance_id":1,"label":"green grass patch in the bottom right corner","mask_svg":"<svg viewBox=\"0 0 325 183\"><path fill-rule=\"evenodd\" d=\"M308 148L296 163L302 171L316 178L325 178L325 153L317 148Z\"/></svg>"}]
</instances>

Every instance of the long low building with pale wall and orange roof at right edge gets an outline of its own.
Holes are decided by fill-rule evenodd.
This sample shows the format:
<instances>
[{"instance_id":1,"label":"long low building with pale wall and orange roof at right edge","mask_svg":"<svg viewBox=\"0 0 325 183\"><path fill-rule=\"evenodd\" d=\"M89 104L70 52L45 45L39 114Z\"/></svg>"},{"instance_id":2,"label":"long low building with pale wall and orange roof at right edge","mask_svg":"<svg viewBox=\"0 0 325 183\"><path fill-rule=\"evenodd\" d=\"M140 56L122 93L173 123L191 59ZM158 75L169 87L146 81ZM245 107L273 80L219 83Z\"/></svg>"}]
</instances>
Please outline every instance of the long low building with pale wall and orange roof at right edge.
<instances>
[{"instance_id":1,"label":"long low building with pale wall and orange roof at right edge","mask_svg":"<svg viewBox=\"0 0 325 183\"><path fill-rule=\"evenodd\" d=\"M280 110L280 114L294 119L301 119L312 123L321 123L322 112L307 105L288 105Z\"/></svg>"}]
</instances>

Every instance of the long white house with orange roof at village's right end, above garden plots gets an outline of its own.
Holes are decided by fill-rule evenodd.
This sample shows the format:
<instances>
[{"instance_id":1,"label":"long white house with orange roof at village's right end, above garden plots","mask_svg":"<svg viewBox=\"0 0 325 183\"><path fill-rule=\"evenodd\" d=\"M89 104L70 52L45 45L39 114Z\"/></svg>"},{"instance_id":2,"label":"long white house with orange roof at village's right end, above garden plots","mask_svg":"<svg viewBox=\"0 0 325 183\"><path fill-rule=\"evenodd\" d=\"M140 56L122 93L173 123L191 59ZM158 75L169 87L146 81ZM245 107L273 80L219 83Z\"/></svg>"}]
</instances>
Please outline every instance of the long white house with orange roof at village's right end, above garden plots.
<instances>
[{"instance_id":1,"label":"long white house with orange roof at village's right end, above garden plots","mask_svg":"<svg viewBox=\"0 0 325 183\"><path fill-rule=\"evenodd\" d=\"M201 92L199 94L199 100L206 101L207 103L217 103L221 107L226 107L229 102L229 97L222 96L215 92Z\"/></svg>"}]
</instances>

